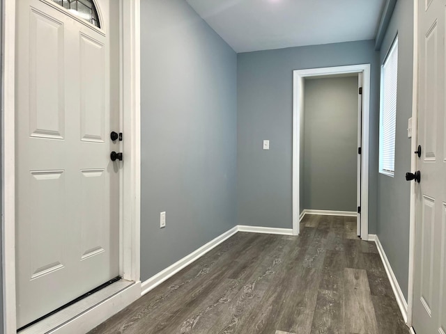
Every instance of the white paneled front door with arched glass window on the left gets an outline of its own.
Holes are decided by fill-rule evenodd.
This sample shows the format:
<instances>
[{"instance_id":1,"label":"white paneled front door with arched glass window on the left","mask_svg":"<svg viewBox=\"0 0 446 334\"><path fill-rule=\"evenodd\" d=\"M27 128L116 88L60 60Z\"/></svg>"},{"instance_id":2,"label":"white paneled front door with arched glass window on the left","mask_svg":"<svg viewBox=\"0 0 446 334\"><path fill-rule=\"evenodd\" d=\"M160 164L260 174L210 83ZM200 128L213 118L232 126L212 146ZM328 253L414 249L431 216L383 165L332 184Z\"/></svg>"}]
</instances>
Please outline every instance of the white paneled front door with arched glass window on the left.
<instances>
[{"instance_id":1,"label":"white paneled front door with arched glass window on the left","mask_svg":"<svg viewBox=\"0 0 446 334\"><path fill-rule=\"evenodd\" d=\"M118 1L56 2L17 1L17 328L119 274Z\"/></svg>"}]
</instances>

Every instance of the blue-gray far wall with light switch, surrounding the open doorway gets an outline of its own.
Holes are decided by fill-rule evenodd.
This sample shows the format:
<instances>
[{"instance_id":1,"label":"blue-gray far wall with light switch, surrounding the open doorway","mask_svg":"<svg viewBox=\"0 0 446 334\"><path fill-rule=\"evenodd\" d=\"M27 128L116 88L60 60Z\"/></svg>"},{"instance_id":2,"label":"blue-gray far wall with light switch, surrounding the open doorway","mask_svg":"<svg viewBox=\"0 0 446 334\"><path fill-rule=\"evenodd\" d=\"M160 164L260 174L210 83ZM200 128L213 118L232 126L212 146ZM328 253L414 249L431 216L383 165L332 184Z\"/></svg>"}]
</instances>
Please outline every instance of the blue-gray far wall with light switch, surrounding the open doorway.
<instances>
[{"instance_id":1,"label":"blue-gray far wall with light switch, surrounding the open doorway","mask_svg":"<svg viewBox=\"0 0 446 334\"><path fill-rule=\"evenodd\" d=\"M292 227L293 70L371 64L369 232L376 232L379 54L374 41L238 54L238 223ZM270 139L270 150L262 140Z\"/></svg>"}]
</instances>

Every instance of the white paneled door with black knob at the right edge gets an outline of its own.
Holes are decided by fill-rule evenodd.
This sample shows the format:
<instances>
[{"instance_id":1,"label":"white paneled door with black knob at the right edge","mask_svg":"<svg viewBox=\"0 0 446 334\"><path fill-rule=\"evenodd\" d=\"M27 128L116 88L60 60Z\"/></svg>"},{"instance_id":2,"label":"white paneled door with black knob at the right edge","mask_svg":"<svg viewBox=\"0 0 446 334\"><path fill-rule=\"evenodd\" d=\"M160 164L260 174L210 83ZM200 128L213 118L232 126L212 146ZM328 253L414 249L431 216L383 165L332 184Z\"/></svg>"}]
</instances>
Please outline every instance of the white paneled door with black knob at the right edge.
<instances>
[{"instance_id":1,"label":"white paneled door with black knob at the right edge","mask_svg":"<svg viewBox=\"0 0 446 334\"><path fill-rule=\"evenodd\" d=\"M419 83L413 328L446 333L446 0L418 1Z\"/></svg>"}]
</instances>

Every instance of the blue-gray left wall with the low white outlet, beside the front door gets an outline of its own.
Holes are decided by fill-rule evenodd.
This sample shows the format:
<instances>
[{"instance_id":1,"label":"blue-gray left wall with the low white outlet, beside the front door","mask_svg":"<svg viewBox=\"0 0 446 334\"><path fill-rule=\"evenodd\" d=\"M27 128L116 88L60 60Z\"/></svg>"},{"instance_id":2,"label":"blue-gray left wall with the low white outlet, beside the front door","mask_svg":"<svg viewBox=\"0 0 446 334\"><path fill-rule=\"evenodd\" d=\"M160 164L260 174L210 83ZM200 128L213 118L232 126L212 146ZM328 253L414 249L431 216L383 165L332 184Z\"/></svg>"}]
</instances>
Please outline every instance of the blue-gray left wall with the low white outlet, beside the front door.
<instances>
[{"instance_id":1,"label":"blue-gray left wall with the low white outlet, beside the front door","mask_svg":"<svg viewBox=\"0 0 446 334\"><path fill-rule=\"evenodd\" d=\"M141 1L141 280L236 225L236 73L186 1Z\"/></svg>"}]
</instances>

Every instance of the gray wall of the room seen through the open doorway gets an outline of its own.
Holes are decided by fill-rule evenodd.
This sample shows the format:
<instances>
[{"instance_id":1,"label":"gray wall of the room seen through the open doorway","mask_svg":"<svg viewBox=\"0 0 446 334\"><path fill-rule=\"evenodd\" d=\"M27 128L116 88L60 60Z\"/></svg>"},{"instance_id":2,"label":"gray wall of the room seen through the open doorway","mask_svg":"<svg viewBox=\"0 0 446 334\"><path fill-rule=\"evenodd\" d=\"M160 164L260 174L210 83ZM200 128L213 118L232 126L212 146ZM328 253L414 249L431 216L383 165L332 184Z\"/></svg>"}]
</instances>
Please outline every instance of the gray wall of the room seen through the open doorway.
<instances>
[{"instance_id":1,"label":"gray wall of the room seen through the open doorway","mask_svg":"<svg viewBox=\"0 0 446 334\"><path fill-rule=\"evenodd\" d=\"M357 75L305 80L304 209L356 211Z\"/></svg>"}]
</instances>

